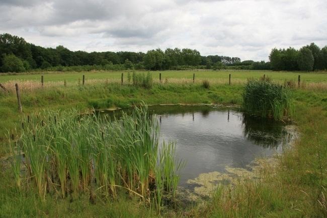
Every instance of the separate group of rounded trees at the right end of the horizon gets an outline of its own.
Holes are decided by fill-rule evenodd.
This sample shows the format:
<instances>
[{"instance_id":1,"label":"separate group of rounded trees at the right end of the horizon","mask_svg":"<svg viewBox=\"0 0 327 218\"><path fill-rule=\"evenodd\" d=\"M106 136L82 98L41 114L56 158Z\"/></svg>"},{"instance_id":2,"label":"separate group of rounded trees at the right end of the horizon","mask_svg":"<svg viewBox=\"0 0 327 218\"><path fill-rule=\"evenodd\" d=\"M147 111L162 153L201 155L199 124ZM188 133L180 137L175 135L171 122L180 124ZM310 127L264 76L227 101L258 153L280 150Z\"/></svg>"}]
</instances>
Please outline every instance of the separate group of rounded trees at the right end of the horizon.
<instances>
[{"instance_id":1,"label":"separate group of rounded trees at the right end of the horizon","mask_svg":"<svg viewBox=\"0 0 327 218\"><path fill-rule=\"evenodd\" d=\"M327 46L320 49L311 43L298 50L273 48L269 60L273 70L324 70L327 69Z\"/></svg>"}]
</instances>

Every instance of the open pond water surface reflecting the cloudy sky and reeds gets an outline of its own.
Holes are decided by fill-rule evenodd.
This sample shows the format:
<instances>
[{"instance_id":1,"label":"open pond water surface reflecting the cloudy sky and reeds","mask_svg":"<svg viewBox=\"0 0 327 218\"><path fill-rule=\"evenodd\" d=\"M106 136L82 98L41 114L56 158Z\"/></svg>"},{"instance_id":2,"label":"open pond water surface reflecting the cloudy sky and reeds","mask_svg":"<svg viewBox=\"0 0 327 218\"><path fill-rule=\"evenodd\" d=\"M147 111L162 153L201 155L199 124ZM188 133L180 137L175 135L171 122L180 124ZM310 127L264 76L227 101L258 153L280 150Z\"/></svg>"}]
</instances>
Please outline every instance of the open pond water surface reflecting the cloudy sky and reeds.
<instances>
[{"instance_id":1,"label":"open pond water surface reflecting the cloudy sky and reeds","mask_svg":"<svg viewBox=\"0 0 327 218\"><path fill-rule=\"evenodd\" d=\"M199 174L247 168L256 158L281 153L293 137L289 125L233 107L166 105L149 110L157 114L160 141L176 141L177 158L186 162L180 181L186 188Z\"/></svg>"}]
</instances>

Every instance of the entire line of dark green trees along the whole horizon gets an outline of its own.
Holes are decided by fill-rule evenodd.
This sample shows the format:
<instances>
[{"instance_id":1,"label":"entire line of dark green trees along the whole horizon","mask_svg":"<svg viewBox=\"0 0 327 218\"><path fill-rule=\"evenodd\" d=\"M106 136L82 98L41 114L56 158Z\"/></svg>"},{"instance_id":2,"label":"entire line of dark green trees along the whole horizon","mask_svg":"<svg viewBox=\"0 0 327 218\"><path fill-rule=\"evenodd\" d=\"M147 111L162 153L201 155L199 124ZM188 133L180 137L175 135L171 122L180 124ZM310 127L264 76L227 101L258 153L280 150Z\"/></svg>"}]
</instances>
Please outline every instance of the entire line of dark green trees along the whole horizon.
<instances>
[{"instance_id":1,"label":"entire line of dark green trees along the whole horizon","mask_svg":"<svg viewBox=\"0 0 327 218\"><path fill-rule=\"evenodd\" d=\"M0 72L28 70L88 71L124 69L272 69L324 70L327 69L327 46L314 43L299 50L273 48L268 62L243 60L220 55L202 56L196 49L167 48L143 52L70 51L62 45L44 48L28 43L24 38L9 33L0 34Z\"/></svg>"}]
</instances>

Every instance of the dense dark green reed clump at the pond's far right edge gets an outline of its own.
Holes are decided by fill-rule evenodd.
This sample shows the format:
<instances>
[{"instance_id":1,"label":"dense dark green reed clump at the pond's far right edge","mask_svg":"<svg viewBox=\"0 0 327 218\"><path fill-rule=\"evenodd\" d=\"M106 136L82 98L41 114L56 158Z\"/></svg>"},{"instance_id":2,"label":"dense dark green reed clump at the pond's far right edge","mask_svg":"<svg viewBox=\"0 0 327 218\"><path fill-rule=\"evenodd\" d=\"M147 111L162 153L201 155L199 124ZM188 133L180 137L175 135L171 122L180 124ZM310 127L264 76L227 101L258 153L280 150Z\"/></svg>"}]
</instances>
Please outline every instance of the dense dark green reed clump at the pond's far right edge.
<instances>
[{"instance_id":1,"label":"dense dark green reed clump at the pond's far right edge","mask_svg":"<svg viewBox=\"0 0 327 218\"><path fill-rule=\"evenodd\" d=\"M283 120L293 111L291 89L269 81L248 81L242 98L243 109L250 114Z\"/></svg>"}]
</instances>

